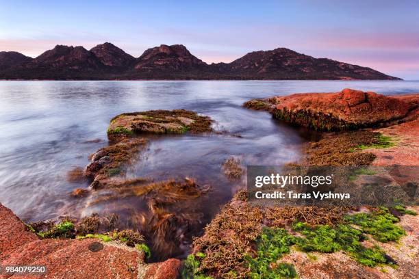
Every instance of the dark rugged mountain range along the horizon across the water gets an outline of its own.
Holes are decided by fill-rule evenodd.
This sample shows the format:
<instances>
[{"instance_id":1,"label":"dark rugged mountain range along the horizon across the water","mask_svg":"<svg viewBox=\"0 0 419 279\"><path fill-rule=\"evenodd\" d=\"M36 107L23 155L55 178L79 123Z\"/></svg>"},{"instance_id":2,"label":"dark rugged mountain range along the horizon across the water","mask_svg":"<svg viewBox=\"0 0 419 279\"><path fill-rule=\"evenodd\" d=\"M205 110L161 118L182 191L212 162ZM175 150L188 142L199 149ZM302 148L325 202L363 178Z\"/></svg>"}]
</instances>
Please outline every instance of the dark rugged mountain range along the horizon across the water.
<instances>
[{"instance_id":1,"label":"dark rugged mountain range along the horizon across the water","mask_svg":"<svg viewBox=\"0 0 419 279\"><path fill-rule=\"evenodd\" d=\"M140 57L110 42L88 51L57 45L36 58L0 52L0 79L388 79L372 68L314 58L290 49L254 51L231 63L206 64L182 44L147 49Z\"/></svg>"}]
</instances>

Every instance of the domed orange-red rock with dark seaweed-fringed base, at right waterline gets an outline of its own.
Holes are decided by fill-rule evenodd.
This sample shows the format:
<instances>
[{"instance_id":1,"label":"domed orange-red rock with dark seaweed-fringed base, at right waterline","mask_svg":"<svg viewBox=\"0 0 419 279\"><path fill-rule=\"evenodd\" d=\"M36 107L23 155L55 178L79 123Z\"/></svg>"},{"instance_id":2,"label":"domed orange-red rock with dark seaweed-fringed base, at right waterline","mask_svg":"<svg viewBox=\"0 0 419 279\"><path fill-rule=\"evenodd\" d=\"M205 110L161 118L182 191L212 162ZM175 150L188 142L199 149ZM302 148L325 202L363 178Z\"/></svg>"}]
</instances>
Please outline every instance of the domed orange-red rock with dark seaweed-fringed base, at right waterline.
<instances>
[{"instance_id":1,"label":"domed orange-red rock with dark seaweed-fringed base, at right waterline","mask_svg":"<svg viewBox=\"0 0 419 279\"><path fill-rule=\"evenodd\" d=\"M259 101L262 102L262 101ZM337 93L304 93L277 96L246 107L270 111L285 122L320 131L342 131L390 124L405 118L414 104L374 92L344 89Z\"/></svg>"}]
</instances>

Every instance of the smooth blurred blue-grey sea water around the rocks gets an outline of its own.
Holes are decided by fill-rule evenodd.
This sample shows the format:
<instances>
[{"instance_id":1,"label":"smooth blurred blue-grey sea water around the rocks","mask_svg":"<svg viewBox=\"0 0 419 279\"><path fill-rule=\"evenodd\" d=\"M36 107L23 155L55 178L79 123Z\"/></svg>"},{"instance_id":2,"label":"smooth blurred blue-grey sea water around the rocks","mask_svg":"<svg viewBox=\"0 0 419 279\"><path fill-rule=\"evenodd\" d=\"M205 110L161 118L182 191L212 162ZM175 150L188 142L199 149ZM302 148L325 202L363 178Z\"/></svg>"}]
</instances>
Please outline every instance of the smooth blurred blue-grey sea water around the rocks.
<instances>
[{"instance_id":1,"label":"smooth blurred blue-grey sea water around the rocks","mask_svg":"<svg viewBox=\"0 0 419 279\"><path fill-rule=\"evenodd\" d=\"M229 134L155 137L127 176L188 176L210 185L209 194L184 209L201 214L190 230L190 236L199 235L244 186L223 176L220 165L227 157L243 165L280 165L300 157L301 131L242 103L343 88L404 94L419 92L419 81L0 81L0 202L26 221L120 212L118 201L91 207L88 199L70 198L73 189L87 184L67 182L67 172L84 167L90 153L107 145L107 125L116 114L188 109L212 117L216 129ZM133 200L120 205L125 211L138 207Z\"/></svg>"}]
</instances>

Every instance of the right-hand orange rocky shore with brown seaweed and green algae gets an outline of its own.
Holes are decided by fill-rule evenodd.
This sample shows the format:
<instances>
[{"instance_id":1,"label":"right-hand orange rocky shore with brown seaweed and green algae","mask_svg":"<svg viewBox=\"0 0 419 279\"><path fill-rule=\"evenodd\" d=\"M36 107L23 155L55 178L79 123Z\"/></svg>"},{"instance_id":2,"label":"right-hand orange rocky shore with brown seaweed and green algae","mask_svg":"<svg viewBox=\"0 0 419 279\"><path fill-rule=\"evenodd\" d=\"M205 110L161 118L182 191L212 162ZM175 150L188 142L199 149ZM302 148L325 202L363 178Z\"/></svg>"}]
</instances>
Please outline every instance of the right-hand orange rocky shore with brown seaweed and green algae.
<instances>
[{"instance_id":1,"label":"right-hand orange rocky shore with brown seaweed and green algae","mask_svg":"<svg viewBox=\"0 0 419 279\"><path fill-rule=\"evenodd\" d=\"M418 101L419 94L383 96L345 89L251 100L244 107L325 132L307 143L305 157L291 165L359 166L362 177L372 174L368 165L419 164ZM400 174L381 175L403 183ZM401 176L418 179L415 170ZM186 273L212 278L418 278L418 184L407 186L411 188L403 190L411 191L416 205L388 209L252 207L246 191L240 191L192 244Z\"/></svg>"}]
</instances>

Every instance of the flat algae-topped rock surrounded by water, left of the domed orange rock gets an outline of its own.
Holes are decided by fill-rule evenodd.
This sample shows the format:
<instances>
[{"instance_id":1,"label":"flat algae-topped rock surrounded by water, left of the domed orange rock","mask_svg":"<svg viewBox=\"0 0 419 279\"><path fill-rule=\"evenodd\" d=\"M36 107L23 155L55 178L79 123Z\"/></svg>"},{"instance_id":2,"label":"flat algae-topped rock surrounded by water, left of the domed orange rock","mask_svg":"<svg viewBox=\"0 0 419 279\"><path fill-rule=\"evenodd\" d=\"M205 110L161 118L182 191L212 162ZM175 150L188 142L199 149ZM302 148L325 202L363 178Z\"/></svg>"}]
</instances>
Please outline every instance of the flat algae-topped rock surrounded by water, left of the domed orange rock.
<instances>
[{"instance_id":1,"label":"flat algae-topped rock surrounded by water, left of the domed orange rock","mask_svg":"<svg viewBox=\"0 0 419 279\"><path fill-rule=\"evenodd\" d=\"M212 131L212 120L184 109L138 111L112 118L107 129L110 139L134 133L204 133Z\"/></svg>"}]
</instances>

